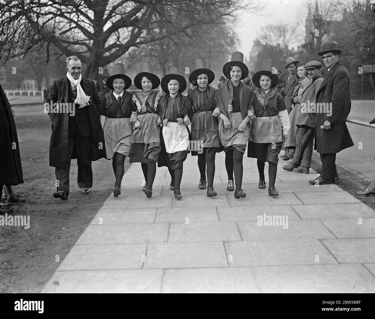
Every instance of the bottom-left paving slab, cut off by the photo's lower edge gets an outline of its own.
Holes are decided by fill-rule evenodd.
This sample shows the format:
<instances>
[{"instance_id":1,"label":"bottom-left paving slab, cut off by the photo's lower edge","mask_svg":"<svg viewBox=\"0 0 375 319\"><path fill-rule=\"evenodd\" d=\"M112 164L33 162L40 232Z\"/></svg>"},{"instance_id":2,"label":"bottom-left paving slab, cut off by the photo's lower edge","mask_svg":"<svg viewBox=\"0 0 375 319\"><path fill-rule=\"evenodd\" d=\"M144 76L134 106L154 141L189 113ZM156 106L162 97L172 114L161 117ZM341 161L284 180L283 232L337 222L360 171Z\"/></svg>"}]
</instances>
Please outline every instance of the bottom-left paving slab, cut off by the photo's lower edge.
<instances>
[{"instance_id":1,"label":"bottom-left paving slab, cut off by the photo's lower edge","mask_svg":"<svg viewBox=\"0 0 375 319\"><path fill-rule=\"evenodd\" d=\"M42 293L159 293L163 269L57 271Z\"/></svg>"}]
</instances>

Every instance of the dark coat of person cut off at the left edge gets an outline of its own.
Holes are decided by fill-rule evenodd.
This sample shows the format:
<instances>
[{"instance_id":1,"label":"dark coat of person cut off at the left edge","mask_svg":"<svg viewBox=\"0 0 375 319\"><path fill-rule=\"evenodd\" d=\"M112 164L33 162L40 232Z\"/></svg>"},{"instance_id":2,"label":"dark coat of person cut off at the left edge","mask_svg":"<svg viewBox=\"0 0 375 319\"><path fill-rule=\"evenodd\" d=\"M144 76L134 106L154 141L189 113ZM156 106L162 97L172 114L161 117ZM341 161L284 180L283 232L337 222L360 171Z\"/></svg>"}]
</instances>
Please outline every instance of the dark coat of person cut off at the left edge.
<instances>
[{"instance_id":1,"label":"dark coat of person cut off at the left edge","mask_svg":"<svg viewBox=\"0 0 375 319\"><path fill-rule=\"evenodd\" d=\"M0 185L15 186L23 182L16 124L0 83Z\"/></svg>"}]
</instances>

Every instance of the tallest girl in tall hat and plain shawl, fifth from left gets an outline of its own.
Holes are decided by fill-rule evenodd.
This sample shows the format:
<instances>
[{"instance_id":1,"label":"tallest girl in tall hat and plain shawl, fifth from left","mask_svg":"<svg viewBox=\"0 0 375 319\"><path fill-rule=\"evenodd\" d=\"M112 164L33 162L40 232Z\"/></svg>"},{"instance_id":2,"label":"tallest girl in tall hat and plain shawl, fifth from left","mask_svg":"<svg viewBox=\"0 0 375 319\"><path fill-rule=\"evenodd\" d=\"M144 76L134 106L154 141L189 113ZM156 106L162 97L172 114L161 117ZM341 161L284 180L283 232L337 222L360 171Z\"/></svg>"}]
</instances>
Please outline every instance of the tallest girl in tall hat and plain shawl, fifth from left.
<instances>
[{"instance_id":1,"label":"tallest girl in tall hat and plain shawl, fifth from left","mask_svg":"<svg viewBox=\"0 0 375 319\"><path fill-rule=\"evenodd\" d=\"M223 73L230 81L217 89L214 97L217 108L213 115L219 116L219 138L224 151L233 152L236 184L234 198L243 198L246 194L242 190L242 159L249 138L248 123L251 118L255 118L255 115L254 93L240 81L249 74L241 52L233 52L231 61L224 64Z\"/></svg>"}]
</instances>

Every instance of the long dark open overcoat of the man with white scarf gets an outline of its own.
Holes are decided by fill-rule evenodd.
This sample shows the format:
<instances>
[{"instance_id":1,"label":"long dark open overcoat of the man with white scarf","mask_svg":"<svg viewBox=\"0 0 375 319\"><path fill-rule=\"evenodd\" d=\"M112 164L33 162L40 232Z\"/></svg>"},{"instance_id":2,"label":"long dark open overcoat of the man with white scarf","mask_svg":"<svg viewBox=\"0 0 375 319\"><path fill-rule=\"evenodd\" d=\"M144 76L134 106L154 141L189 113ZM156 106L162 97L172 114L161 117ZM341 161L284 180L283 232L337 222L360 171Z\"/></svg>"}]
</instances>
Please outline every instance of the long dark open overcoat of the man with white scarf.
<instances>
[{"instance_id":1,"label":"long dark open overcoat of the man with white scarf","mask_svg":"<svg viewBox=\"0 0 375 319\"><path fill-rule=\"evenodd\" d=\"M91 127L91 160L95 161L105 158L105 143L102 125L100 124L100 111L102 100L96 90L93 80L82 77L81 87L86 95L90 96L87 111L89 113L89 121ZM69 100L70 81L67 76L55 80L50 88L50 93L46 103L72 103ZM49 143L49 166L66 168L66 156L68 153L68 113L48 113L52 121L52 134ZM77 158L77 154L73 149L72 159Z\"/></svg>"}]
</instances>

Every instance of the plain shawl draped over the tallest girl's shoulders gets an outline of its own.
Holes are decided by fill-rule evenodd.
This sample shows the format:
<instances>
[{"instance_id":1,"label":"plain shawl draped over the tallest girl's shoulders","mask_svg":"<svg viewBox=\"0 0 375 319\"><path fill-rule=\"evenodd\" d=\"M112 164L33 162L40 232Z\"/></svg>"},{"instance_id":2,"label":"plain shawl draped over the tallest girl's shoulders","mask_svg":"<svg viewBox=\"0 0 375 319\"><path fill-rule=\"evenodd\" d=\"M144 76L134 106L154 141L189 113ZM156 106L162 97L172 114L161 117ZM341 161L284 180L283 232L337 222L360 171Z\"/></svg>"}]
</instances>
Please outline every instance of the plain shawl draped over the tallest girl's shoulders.
<instances>
[{"instance_id":1,"label":"plain shawl draped over the tallest girl's shoulders","mask_svg":"<svg viewBox=\"0 0 375 319\"><path fill-rule=\"evenodd\" d=\"M246 115L248 115L248 109L250 109L248 106L254 103L254 93L253 91L245 84L240 82L240 109L241 109L241 115L244 119ZM220 111L229 118L229 111L228 106L232 105L233 100L233 85L232 81L228 81L224 83L222 86L220 86L219 89L217 89L214 103L217 104Z\"/></svg>"}]
</instances>

